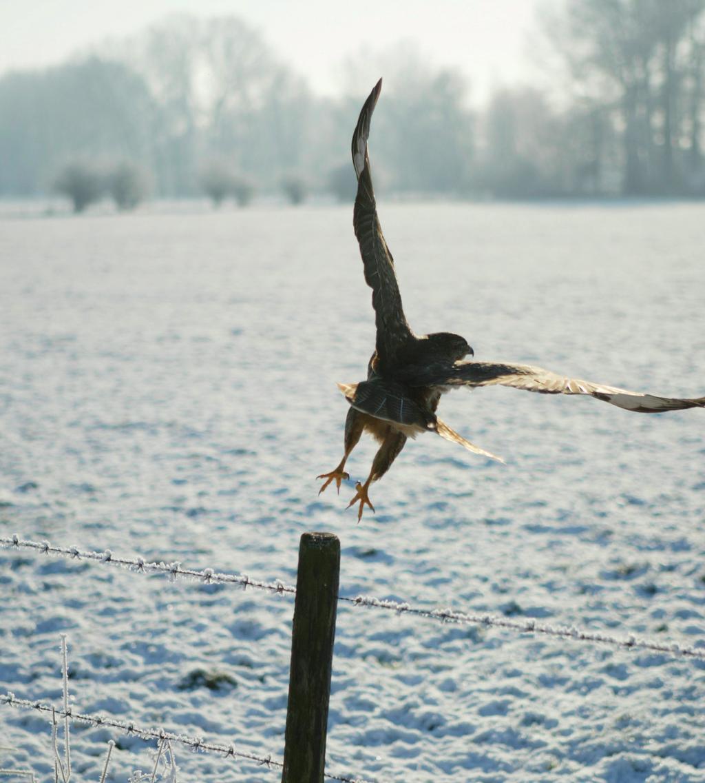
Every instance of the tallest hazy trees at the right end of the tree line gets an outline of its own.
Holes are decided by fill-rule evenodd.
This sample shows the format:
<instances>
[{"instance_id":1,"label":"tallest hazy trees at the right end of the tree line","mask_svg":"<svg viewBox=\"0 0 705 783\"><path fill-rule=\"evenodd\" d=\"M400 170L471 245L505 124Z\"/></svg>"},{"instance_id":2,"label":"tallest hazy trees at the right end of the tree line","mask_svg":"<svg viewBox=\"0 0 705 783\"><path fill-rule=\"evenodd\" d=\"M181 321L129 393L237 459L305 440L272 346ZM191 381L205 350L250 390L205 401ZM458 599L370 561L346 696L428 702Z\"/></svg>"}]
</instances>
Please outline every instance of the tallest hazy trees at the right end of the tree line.
<instances>
[{"instance_id":1,"label":"tallest hazy trees at the right end of the tree line","mask_svg":"<svg viewBox=\"0 0 705 783\"><path fill-rule=\"evenodd\" d=\"M624 193L705 193L703 0L567 0L545 22L567 67L582 165ZM576 128L577 129L577 128Z\"/></svg>"}]
</instances>

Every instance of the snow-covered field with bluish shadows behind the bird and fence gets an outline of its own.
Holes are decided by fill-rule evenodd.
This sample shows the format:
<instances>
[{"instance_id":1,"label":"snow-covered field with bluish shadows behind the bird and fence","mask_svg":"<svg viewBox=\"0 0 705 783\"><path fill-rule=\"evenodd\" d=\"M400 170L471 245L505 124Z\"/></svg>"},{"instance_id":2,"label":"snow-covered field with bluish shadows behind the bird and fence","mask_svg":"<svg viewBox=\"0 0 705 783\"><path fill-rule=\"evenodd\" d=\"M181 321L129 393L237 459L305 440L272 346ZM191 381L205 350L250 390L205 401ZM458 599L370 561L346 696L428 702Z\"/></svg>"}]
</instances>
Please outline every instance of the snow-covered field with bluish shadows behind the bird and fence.
<instances>
[{"instance_id":1,"label":"snow-covered field with bluish shadows behind the bird and fence","mask_svg":"<svg viewBox=\"0 0 705 783\"><path fill-rule=\"evenodd\" d=\"M408 319L477 359L705 394L703 207L382 204ZM336 533L341 594L705 648L705 411L455 391L356 525L335 381L370 292L347 207L0 222L0 536L296 579ZM364 479L374 444L348 468ZM281 759L293 601L0 551L0 692ZM203 670L221 680L206 687ZM341 605L328 768L379 783L705 781L705 665ZM151 769L74 727L75 783ZM0 767L53 780L46 718L0 705ZM176 748L183 781L280 773ZM18 778L21 780L21 778Z\"/></svg>"}]
</instances>

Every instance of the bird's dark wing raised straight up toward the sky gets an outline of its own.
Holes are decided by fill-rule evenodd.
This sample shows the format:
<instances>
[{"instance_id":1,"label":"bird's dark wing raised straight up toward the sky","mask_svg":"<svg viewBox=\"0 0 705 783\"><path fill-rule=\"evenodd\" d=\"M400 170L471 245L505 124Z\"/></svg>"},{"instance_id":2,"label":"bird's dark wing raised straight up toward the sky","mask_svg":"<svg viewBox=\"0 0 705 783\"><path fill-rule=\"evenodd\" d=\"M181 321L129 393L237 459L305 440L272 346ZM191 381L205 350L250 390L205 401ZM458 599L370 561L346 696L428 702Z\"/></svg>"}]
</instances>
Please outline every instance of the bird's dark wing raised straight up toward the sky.
<instances>
[{"instance_id":1,"label":"bird's dark wing raised straight up toward the sky","mask_svg":"<svg viewBox=\"0 0 705 783\"><path fill-rule=\"evenodd\" d=\"M375 109L382 80L379 79L369 98L362 106L357 127L352 138L352 157L355 175L358 177L358 195L355 198L353 226L360 244L360 254L365 267L365 281L372 288L372 307L375 309L377 328L376 349L382 363L393 361L398 349L412 338L401 306L401 294L394 273L394 258L384 240L377 217L372 175L369 170L367 139L369 123Z\"/></svg>"}]
</instances>

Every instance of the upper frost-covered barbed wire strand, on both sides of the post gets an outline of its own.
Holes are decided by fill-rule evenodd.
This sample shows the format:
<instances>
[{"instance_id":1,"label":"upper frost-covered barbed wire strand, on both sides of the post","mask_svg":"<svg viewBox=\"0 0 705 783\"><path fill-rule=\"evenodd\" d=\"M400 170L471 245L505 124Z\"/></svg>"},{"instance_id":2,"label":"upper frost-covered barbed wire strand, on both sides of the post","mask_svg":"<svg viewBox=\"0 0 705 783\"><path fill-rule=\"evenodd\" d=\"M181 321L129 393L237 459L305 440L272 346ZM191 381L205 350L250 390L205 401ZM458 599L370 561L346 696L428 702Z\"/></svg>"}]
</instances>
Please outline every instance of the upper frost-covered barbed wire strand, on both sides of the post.
<instances>
[{"instance_id":1,"label":"upper frost-covered barbed wire strand, on both sides of the post","mask_svg":"<svg viewBox=\"0 0 705 783\"><path fill-rule=\"evenodd\" d=\"M91 552L79 550L77 547L52 547L48 541L42 541L41 543L36 541L24 541L17 535L9 538L0 537L0 546L18 549L33 549L38 550L43 554L54 554L59 555L60 557L70 557L77 560L85 558L104 565L120 565L124 568L129 568L133 572L160 572L167 574L171 579L176 579L178 576L186 576L192 579L199 579L204 583L231 583L242 585L243 588L252 586L257 589L267 590L271 593L296 594L296 587L285 585L279 580L275 582L261 582L257 579L250 579L249 576L245 575L236 576L234 574L215 572L213 568L204 568L202 571L196 571L192 568L182 568L179 562L167 565L164 562L146 562L143 557L114 557L110 550L105 550L104 552ZM386 599L365 595L358 595L355 597L339 595L338 601L343 601L344 603L354 606L383 609L389 612L395 612L397 615L407 614L426 619L435 619L441 622L457 622L465 625L493 626L518 631L520 633L538 633L574 641L609 644L613 647L628 650L641 649L665 655L682 656L689 659L705 661L705 648L685 646L676 642L665 644L642 639L636 637L634 634L630 634L628 637L619 638L611 636L608 633L583 630L577 626L553 626L548 623L537 622L531 618L526 620L514 620L489 613L456 612L450 608L424 609L412 607L411 604L406 602L387 601Z\"/></svg>"}]
</instances>

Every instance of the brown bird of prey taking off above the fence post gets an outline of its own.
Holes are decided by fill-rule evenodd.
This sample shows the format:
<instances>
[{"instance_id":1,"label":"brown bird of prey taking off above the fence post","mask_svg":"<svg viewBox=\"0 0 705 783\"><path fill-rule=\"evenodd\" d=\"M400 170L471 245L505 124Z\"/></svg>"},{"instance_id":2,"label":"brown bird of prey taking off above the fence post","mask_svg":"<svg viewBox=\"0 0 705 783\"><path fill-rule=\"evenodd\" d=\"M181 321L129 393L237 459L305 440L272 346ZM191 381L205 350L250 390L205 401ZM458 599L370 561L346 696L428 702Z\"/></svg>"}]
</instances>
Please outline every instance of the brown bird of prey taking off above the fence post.
<instances>
[{"instance_id":1,"label":"brown bird of prey taking off above the fence post","mask_svg":"<svg viewBox=\"0 0 705 783\"><path fill-rule=\"evenodd\" d=\"M367 139L372 112L381 89L380 79L362 106L352 137L353 165L358 178L353 226L360 245L365 281L372 288L376 324L375 352L369 360L366 381L338 384L350 403L345 420L344 454L333 471L318 476L326 479L318 494L333 481L340 493L340 482L349 478L344 471L347 458L365 431L376 438L380 446L367 480L364 484L357 482L357 493L348 504L349 508L359 503L358 522L365 506L375 510L369 500L369 485L389 470L407 438L415 438L422 432L435 432L476 454L503 461L462 438L436 416L441 395L460 386L475 388L501 385L541 394L590 395L638 413L705 407L705 397L657 397L591 381L579 381L526 364L468 361L466 356L474 354L464 337L448 332L414 334L401 305L394 258L379 225L369 168Z\"/></svg>"}]
</instances>

